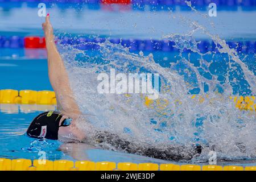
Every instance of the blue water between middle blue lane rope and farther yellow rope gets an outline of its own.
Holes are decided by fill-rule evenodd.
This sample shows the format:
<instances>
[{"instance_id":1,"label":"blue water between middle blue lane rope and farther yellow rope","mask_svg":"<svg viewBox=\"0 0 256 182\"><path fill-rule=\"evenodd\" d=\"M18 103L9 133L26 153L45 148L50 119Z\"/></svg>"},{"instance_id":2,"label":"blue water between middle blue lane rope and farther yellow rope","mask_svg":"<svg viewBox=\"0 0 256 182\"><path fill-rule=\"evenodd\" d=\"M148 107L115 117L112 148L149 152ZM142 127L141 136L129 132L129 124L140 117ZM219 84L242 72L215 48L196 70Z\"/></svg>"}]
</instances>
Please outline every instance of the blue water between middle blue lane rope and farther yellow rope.
<instances>
[{"instance_id":1,"label":"blue water between middle blue lane rope and farther yellow rope","mask_svg":"<svg viewBox=\"0 0 256 182\"><path fill-rule=\"evenodd\" d=\"M32 89L32 90L52 90L51 85L48 80L47 73L47 61L46 61L46 51L44 49L32 49L26 50L24 49L1 49L0 56L1 60L1 89ZM132 51L134 53L139 53L138 51ZM148 55L149 51L144 51L144 55ZM171 63L176 63L177 57L179 56L179 52L162 52L155 51L152 52L154 55L155 63L158 63L160 66L164 68L170 67ZM15 56L13 56L15 55ZM184 57L188 56L188 53L183 53ZM30 58L31 57L31 58ZM35 59L35 57L37 59ZM230 71L228 68L228 55L216 53L215 59L210 63L209 72L205 72L199 68L200 65L200 57L195 53L190 53L191 63L195 65L200 71L200 74L205 78L211 79L212 76L218 76L219 81L225 81L224 75ZM253 53L241 55L243 57L243 62L246 63L248 68L255 74L256 73L256 65L255 65L255 55ZM205 59L208 59L205 56ZM84 60L85 61L85 60ZM209 60L210 62L211 60ZM186 65L180 63L176 65L176 70L183 70ZM240 65L237 64L238 69L241 71ZM239 94L240 96L250 96L251 92L247 89L247 81L242 77L237 75L237 72L232 72L230 75L230 80L237 78L240 82L233 83L234 95ZM182 73L181 73L182 74ZM183 73L184 74L184 73ZM23 75L20 77L20 75ZM6 81L6 77L9 81ZM196 78L192 77L190 82L196 82ZM220 90L221 91L221 90ZM205 92L207 92L207 87L205 88ZM191 94L199 93L198 89L191 90Z\"/></svg>"}]
</instances>

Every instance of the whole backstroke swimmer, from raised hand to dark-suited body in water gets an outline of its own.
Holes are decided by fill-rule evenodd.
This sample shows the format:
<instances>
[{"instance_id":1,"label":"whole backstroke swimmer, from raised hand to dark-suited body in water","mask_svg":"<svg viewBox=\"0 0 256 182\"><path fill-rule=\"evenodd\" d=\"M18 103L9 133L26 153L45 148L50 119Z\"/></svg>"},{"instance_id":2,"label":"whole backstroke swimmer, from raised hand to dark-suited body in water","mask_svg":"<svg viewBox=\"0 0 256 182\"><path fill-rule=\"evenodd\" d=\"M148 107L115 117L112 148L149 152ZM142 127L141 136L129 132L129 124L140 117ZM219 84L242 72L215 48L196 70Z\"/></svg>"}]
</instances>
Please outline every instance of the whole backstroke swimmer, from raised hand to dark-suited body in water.
<instances>
[{"instance_id":1,"label":"whole backstroke swimmer, from raised hand to dark-suited body in water","mask_svg":"<svg viewBox=\"0 0 256 182\"><path fill-rule=\"evenodd\" d=\"M113 150L114 147L116 150L131 154L176 161L192 159L193 156L201 152L198 147L166 146L162 150L147 145L142 147L141 144L123 140L117 134L110 134L106 131L96 131L96 133L94 132L90 137L87 137L77 126L77 123L81 120L81 111L73 97L67 71L55 45L49 14L47 14L46 22L42 26L46 38L48 76L56 94L57 111L44 112L35 117L27 129L28 137L52 140L68 139L79 142L89 141L88 143L109 150ZM112 147L108 148L109 145Z\"/></svg>"}]
</instances>

